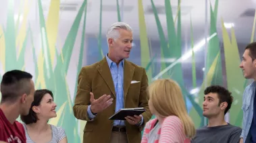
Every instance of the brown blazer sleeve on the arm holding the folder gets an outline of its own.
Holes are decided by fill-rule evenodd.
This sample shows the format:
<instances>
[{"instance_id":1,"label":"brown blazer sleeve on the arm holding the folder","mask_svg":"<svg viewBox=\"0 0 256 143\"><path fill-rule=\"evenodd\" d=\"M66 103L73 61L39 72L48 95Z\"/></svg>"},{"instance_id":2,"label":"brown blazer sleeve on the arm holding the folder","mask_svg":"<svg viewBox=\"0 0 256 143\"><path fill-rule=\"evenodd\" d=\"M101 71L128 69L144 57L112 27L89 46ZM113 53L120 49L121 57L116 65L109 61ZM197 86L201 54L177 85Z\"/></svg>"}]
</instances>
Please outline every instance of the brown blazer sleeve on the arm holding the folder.
<instances>
[{"instance_id":1,"label":"brown blazer sleeve on the arm holding the folder","mask_svg":"<svg viewBox=\"0 0 256 143\"><path fill-rule=\"evenodd\" d=\"M143 130L145 124L151 119L151 112L149 111L149 93L147 88L149 87L148 78L146 74L145 68L143 68L143 78L140 84L140 97L139 97L139 105L138 107L144 107L146 111L142 114L143 115L143 125L139 126L140 131Z\"/></svg>"}]
</instances>

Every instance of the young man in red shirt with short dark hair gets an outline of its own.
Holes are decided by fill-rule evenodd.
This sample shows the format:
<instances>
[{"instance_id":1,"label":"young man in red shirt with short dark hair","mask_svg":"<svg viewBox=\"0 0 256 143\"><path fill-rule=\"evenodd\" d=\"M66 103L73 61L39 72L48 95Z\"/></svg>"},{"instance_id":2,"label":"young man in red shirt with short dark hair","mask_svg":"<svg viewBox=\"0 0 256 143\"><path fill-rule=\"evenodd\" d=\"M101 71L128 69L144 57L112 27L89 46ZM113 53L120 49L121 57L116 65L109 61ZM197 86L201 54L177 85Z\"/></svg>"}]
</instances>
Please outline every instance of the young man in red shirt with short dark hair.
<instances>
[{"instance_id":1,"label":"young man in red shirt with short dark hair","mask_svg":"<svg viewBox=\"0 0 256 143\"><path fill-rule=\"evenodd\" d=\"M0 142L26 142L25 130L16 119L28 115L34 100L32 75L21 70L11 70L1 81Z\"/></svg>"}]
</instances>

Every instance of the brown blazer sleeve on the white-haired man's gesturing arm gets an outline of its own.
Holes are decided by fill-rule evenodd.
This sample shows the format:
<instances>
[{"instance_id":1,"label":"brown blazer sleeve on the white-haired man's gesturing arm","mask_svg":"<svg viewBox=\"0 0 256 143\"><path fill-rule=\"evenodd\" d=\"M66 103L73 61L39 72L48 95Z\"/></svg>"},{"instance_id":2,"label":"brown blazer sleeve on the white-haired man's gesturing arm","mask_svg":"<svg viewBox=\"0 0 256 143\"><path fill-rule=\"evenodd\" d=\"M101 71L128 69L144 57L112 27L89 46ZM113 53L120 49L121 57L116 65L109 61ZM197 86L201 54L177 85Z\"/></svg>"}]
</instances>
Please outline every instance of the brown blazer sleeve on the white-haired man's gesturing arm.
<instances>
[{"instance_id":1,"label":"brown blazer sleeve on the white-haired man's gesturing arm","mask_svg":"<svg viewBox=\"0 0 256 143\"><path fill-rule=\"evenodd\" d=\"M73 111L78 120L91 121L87 113L88 105L91 104L91 78L86 74L86 68L86 66L82 67L78 75L78 87Z\"/></svg>"}]
</instances>

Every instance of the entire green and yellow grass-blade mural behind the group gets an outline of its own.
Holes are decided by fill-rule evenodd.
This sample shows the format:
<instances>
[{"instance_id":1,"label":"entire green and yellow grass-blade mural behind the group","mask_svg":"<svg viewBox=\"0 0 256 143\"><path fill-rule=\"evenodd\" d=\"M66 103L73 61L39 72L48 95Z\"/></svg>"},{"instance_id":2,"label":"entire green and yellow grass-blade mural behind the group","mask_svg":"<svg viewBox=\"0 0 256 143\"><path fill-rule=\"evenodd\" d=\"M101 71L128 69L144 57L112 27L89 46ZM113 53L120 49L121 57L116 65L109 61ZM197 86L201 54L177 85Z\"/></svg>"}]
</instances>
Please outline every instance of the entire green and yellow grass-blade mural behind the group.
<instances>
[{"instance_id":1,"label":"entire green and yellow grass-blade mural behind the group","mask_svg":"<svg viewBox=\"0 0 256 143\"><path fill-rule=\"evenodd\" d=\"M155 16L155 22L157 24L157 31L159 34L159 41L161 46L161 58L175 58L178 59L182 56L182 29L181 29L181 14L180 14L180 0L178 12L172 12L172 5L170 0L165 0L165 13L167 22L167 37L163 32L161 22L159 20L159 15L155 7L155 3L151 0L151 7ZM119 2L117 2L117 17L118 21L121 21ZM57 43L58 28L59 28L59 5L60 0L52 0L49 6L48 15L44 15L42 1L38 0L36 9L39 11L39 29L41 46L34 46L33 31L30 27L30 21L27 20L28 14L32 7L28 0L24 0L24 5L20 6L20 10L23 9L23 14L21 12L18 14L18 20L14 20L14 0L8 1L7 9L7 21L6 26L0 26L0 62L1 69L3 73L7 70L20 69L26 70L26 48L28 48L29 42L32 45L32 57L34 65L34 83L36 89L53 89L54 99L57 103L57 117L50 120L49 124L55 126L62 126L66 130L69 142L82 142L83 128L86 122L81 122L76 120L74 117L72 106L74 101L74 96L76 95L76 85L74 86L74 93L70 93L70 89L67 81L68 67L70 64L70 58L74 52L74 45L76 39L80 38L80 52L79 60L77 64L76 73L80 72L82 68L82 59L84 53L84 39L86 30L86 5L87 1L84 0L82 5L78 10L78 13L69 29L68 36L64 41L63 47L61 47L61 52L58 54ZM101 27L102 27L102 0L100 1L100 16L99 16L99 35L98 48L99 60L104 56L102 45L101 45ZM202 103L203 103L203 90L205 86L217 84L222 85L222 58L220 56L220 41L217 37L217 7L218 0L215 0L214 9L210 7L210 32L209 36L214 35L207 47L207 66L205 67L205 79L201 85L201 89L197 96L190 95L190 93L185 88L184 77L182 74L182 63L178 62L175 64L168 72L164 73L161 78L172 78L180 84L182 87L182 93L184 94L184 100L190 102L193 107L188 109L190 116L193 118L197 128L205 124L204 117L202 115ZM172 15L176 14L176 17ZM20 21L20 17L23 17ZM47 18L45 18L47 17ZM143 1L138 0L138 26L140 32L140 59L141 66L145 67L147 70L147 75L149 78L149 83L153 81L153 71L155 70L153 64L155 60L155 55L151 52L151 45L149 43L149 38L147 34L147 24L145 21L145 13L143 10ZM256 17L256 16L255 16ZM79 27L82 25L82 31L78 31ZM255 23L253 25L255 29ZM78 33L81 32L81 37L78 37ZM224 41L224 54L226 63L226 75L228 89L234 95L234 104L230 109L230 123L236 126L241 126L242 123L242 112L240 107L242 105L242 92L247 85L247 81L242 77L241 70L238 68L240 62L238 46L236 42L236 37L234 34L234 29L231 32L231 38L228 35L224 23L222 21L222 35ZM254 33L252 34L252 40L254 39ZM191 82L193 87L197 87L197 75L196 75L196 62L195 53L193 51L194 41L193 41L193 20L190 19L190 38L191 38L191 49L192 49L192 78ZM38 55L36 55L36 48L40 49ZM9 56L11 55L11 56ZM161 70L167 68L173 63L162 62ZM1 75L2 76L2 75ZM0 80L1 80L0 76ZM236 79L234 78L236 77ZM236 82L237 78L244 82ZM77 81L77 76L76 76ZM188 101L187 101L188 100Z\"/></svg>"}]
</instances>

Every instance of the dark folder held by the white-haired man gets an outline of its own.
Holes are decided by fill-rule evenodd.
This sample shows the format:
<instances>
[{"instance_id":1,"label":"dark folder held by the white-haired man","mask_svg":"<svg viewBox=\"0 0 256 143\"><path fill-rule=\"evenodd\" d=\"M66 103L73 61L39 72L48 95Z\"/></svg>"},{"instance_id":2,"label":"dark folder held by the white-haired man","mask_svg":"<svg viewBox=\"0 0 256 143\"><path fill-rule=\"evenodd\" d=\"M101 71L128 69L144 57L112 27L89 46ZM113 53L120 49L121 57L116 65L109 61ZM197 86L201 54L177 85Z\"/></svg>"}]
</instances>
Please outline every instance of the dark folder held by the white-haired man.
<instances>
[{"instance_id":1,"label":"dark folder held by the white-haired man","mask_svg":"<svg viewBox=\"0 0 256 143\"><path fill-rule=\"evenodd\" d=\"M140 115L145 111L146 109L144 109L144 107L124 108L118 110L116 113L111 115L111 117L109 117L109 120L126 120L124 117L128 115L133 117L134 115Z\"/></svg>"}]
</instances>

